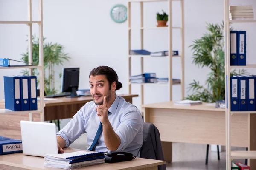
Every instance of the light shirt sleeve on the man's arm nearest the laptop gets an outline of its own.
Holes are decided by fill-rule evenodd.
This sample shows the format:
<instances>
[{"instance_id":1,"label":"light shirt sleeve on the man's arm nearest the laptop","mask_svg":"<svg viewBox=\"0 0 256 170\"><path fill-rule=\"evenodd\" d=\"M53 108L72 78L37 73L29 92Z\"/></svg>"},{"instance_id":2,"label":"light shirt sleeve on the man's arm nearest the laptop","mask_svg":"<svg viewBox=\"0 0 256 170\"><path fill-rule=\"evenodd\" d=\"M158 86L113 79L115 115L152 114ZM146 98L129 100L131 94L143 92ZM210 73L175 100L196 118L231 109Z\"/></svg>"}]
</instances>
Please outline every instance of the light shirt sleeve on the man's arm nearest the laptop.
<instances>
[{"instance_id":1,"label":"light shirt sleeve on the man's arm nearest the laptop","mask_svg":"<svg viewBox=\"0 0 256 170\"><path fill-rule=\"evenodd\" d=\"M85 105L73 116L65 127L57 132L57 136L61 136L64 139L65 147L72 144L81 134L86 133L84 129L84 113Z\"/></svg>"}]
</instances>

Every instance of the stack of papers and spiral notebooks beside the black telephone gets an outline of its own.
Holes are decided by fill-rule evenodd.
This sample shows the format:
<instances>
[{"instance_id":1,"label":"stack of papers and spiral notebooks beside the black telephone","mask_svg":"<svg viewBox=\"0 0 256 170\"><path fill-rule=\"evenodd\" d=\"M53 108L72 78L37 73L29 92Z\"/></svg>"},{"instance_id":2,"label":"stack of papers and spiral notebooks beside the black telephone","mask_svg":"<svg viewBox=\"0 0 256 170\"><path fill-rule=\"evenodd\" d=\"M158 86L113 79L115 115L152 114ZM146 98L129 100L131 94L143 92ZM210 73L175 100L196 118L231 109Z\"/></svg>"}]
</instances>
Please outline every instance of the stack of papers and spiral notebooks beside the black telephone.
<instances>
[{"instance_id":1,"label":"stack of papers and spiral notebooks beside the black telephone","mask_svg":"<svg viewBox=\"0 0 256 170\"><path fill-rule=\"evenodd\" d=\"M102 164L104 162L105 154L103 152L92 153L86 151L78 151L62 154L48 154L44 157L44 166L67 170Z\"/></svg>"}]
</instances>

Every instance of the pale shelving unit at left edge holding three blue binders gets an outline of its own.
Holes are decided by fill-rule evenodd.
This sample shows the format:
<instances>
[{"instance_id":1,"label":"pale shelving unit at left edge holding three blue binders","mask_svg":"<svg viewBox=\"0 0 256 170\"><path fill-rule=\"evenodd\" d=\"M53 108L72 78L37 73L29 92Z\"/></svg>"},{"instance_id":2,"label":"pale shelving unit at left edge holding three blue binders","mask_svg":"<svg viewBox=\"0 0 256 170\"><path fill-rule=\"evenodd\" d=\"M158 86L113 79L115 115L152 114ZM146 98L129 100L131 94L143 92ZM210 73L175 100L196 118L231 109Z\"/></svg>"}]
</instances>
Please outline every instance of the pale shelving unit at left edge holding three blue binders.
<instances>
[{"instance_id":1,"label":"pale shelving unit at left edge holding three blue binders","mask_svg":"<svg viewBox=\"0 0 256 170\"><path fill-rule=\"evenodd\" d=\"M0 24L26 24L29 27L29 63L32 63L32 24L39 26L39 65L37 66L19 66L19 67L0 67L0 69L22 69L29 68L29 75L32 75L32 69L39 69L40 85L40 109L37 111L11 111L0 109L0 114L23 114L29 113L29 120L33 121L32 113L40 113L40 121L44 122L44 45L43 45L43 0L39 1L39 20L32 21L32 0L28 0L28 20L27 21L0 21ZM30 64L29 64L30 65Z\"/></svg>"}]
</instances>

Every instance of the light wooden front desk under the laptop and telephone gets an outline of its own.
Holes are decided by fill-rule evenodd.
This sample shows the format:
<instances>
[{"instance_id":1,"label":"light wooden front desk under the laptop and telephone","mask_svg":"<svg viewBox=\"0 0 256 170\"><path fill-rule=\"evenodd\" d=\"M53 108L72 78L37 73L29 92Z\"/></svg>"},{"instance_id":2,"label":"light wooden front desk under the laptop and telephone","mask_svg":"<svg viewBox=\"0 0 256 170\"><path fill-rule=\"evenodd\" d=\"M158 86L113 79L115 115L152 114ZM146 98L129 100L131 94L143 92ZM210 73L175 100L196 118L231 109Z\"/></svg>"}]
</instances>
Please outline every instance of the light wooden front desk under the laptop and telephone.
<instances>
[{"instance_id":1,"label":"light wooden front desk under the laptop and telephone","mask_svg":"<svg viewBox=\"0 0 256 170\"><path fill-rule=\"evenodd\" d=\"M75 152L78 149L65 148L65 152ZM157 170L158 165L166 161L154 159L135 158L132 161L118 162L113 164L103 163L78 170ZM59 168L45 167L44 157L27 156L23 153L0 155L0 170L63 170Z\"/></svg>"}]
</instances>

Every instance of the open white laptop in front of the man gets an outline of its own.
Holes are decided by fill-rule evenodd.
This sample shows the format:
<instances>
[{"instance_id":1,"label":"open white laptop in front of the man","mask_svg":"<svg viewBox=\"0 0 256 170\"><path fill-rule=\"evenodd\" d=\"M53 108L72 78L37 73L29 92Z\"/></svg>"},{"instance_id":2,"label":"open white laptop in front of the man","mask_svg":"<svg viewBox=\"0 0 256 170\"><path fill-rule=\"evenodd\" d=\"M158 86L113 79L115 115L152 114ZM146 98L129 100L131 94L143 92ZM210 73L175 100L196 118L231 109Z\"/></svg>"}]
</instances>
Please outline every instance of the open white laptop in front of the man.
<instances>
[{"instance_id":1,"label":"open white laptop in front of the man","mask_svg":"<svg viewBox=\"0 0 256 170\"><path fill-rule=\"evenodd\" d=\"M20 121L23 154L44 157L58 154L54 123Z\"/></svg>"}]
</instances>

